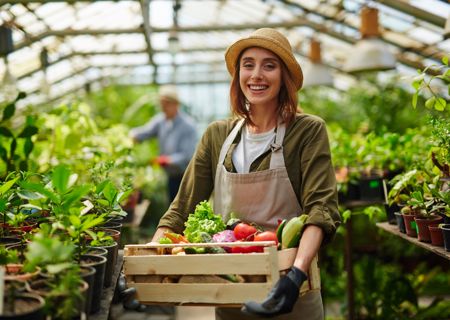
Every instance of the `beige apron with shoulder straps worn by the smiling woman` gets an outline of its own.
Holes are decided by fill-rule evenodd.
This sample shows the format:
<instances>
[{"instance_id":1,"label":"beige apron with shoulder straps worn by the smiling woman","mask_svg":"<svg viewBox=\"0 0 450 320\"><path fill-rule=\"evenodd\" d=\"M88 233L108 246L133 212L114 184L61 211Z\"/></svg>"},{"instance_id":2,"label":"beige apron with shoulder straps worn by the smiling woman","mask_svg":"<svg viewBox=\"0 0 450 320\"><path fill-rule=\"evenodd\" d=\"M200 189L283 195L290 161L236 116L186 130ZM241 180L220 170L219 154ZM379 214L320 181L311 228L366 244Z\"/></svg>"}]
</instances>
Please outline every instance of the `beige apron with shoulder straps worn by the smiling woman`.
<instances>
[{"instance_id":1,"label":"beige apron with shoulder straps worn by the smiling woman","mask_svg":"<svg viewBox=\"0 0 450 320\"><path fill-rule=\"evenodd\" d=\"M286 125L281 121L278 123L275 142L271 145L269 170L245 174L228 172L223 163L243 125L244 120L236 124L220 150L214 181L214 212L222 214L225 219L234 212L244 221L254 222L266 230L275 230L278 219L290 219L303 211L297 201L284 163L282 145ZM323 319L317 256L311 263L308 281L305 281L300 292L301 297L294 311L280 319ZM238 317L240 315L242 317ZM216 319L252 318L246 317L238 310L217 308Z\"/></svg>"}]
</instances>

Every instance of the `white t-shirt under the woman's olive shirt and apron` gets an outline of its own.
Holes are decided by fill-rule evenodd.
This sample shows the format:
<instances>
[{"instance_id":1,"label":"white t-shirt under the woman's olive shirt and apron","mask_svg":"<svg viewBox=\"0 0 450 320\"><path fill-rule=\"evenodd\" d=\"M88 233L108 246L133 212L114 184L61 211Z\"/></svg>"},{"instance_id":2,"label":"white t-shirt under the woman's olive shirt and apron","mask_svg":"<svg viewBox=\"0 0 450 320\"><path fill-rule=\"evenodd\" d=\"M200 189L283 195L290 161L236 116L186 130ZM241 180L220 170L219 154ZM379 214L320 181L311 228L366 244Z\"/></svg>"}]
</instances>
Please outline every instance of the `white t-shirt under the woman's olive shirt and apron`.
<instances>
[{"instance_id":1,"label":"white t-shirt under the woman's olive shirt and apron","mask_svg":"<svg viewBox=\"0 0 450 320\"><path fill-rule=\"evenodd\" d=\"M263 133L249 133L247 126L242 130L241 141L234 149L232 160L238 173L249 173L250 165L261 154L269 150L275 141L275 128Z\"/></svg>"}]
</instances>

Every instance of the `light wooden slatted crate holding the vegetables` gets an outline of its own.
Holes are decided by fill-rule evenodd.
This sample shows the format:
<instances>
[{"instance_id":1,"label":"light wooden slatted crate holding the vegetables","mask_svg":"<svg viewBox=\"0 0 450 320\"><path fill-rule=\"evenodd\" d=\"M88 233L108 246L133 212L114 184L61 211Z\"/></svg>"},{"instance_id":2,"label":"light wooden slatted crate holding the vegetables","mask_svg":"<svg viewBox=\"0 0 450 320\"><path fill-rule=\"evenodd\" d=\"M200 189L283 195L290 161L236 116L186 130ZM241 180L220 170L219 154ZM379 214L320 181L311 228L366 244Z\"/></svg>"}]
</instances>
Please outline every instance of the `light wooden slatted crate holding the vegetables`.
<instances>
[{"instance_id":1,"label":"light wooden slatted crate holding the vegetables","mask_svg":"<svg viewBox=\"0 0 450 320\"><path fill-rule=\"evenodd\" d=\"M225 306L239 305L248 300L262 301L279 279L280 271L292 266L297 248L277 251L271 241L202 243L188 246L246 245L264 246L264 252L158 255L158 249L186 247L186 244L126 245L124 273L127 278L127 286L136 288L137 298L143 304ZM220 283L212 280L212 283L206 283L202 277L196 278L197 276L228 274L240 275L250 281L256 278L258 282ZM199 279L199 282L161 283L163 279L168 280L180 275L193 276L190 277L191 280L192 278Z\"/></svg>"}]
</instances>

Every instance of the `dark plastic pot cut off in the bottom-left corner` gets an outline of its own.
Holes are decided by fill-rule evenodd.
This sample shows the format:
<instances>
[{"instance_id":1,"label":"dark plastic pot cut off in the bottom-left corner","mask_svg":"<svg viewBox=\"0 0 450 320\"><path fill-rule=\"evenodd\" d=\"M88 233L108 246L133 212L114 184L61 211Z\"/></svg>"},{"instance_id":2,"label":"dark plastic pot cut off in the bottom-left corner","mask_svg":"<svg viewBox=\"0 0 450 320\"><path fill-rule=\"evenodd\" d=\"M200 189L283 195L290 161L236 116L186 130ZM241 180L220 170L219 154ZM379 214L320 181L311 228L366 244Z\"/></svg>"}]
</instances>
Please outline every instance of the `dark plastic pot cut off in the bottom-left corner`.
<instances>
[{"instance_id":1,"label":"dark plastic pot cut off in the bottom-left corner","mask_svg":"<svg viewBox=\"0 0 450 320\"><path fill-rule=\"evenodd\" d=\"M8 313L5 306L0 320L44 320L44 298L37 294L24 293L15 297L15 309Z\"/></svg>"}]
</instances>

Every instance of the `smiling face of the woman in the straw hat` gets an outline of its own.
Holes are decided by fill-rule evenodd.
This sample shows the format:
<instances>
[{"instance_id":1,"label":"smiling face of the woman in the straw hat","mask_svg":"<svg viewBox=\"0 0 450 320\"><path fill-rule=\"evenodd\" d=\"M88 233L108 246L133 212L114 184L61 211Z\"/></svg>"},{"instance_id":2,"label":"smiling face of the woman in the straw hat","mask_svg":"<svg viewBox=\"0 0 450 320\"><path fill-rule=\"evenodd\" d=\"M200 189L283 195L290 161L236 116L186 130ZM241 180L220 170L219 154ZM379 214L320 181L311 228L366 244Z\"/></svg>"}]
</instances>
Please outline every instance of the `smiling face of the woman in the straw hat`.
<instances>
[{"instance_id":1,"label":"smiling face of the woman in the straw hat","mask_svg":"<svg viewBox=\"0 0 450 320\"><path fill-rule=\"evenodd\" d=\"M251 106L278 107L281 88L281 61L273 52L252 47L239 63L239 84Z\"/></svg>"}]
</instances>

